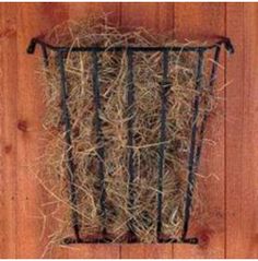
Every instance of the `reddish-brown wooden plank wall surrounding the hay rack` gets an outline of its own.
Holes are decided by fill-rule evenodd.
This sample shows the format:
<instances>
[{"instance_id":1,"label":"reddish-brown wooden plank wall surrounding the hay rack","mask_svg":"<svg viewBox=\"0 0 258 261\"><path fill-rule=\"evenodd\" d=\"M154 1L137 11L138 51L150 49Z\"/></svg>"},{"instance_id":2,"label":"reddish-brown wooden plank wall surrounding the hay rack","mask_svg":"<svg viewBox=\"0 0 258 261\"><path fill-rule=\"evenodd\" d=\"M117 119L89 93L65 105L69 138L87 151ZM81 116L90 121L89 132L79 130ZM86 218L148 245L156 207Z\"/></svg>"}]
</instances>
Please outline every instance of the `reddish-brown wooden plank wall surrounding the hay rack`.
<instances>
[{"instance_id":1,"label":"reddish-brown wooden plank wall surrounding the hay rack","mask_svg":"<svg viewBox=\"0 0 258 261\"><path fill-rule=\"evenodd\" d=\"M0 3L0 257L39 258L51 223L32 163L39 155L44 106L28 40L67 20L110 12L119 25L172 29L176 38L226 35L236 52L222 57L218 87L223 116L212 117L216 146L203 152L204 223L191 224L199 246L82 245L52 258L258 258L258 4L257 3ZM45 221L45 222L44 222Z\"/></svg>"}]
</instances>

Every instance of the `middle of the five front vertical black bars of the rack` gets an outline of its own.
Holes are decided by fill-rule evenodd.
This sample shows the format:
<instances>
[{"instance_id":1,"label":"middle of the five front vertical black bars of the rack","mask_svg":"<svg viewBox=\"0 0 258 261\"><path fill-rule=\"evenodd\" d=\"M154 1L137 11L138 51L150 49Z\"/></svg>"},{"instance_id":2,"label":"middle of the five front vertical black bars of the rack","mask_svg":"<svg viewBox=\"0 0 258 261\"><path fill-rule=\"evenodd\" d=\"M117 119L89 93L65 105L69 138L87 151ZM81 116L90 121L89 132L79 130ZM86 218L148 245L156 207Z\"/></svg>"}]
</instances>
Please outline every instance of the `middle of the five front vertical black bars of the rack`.
<instances>
[{"instance_id":1,"label":"middle of the five front vertical black bars of the rack","mask_svg":"<svg viewBox=\"0 0 258 261\"><path fill-rule=\"evenodd\" d=\"M134 191L134 178L136 178L136 169L134 169L134 159L133 159L133 144L134 144L134 135L133 135L133 123L134 123L134 84L133 84L133 57L132 51L127 51L127 66L128 66L128 74L127 74L127 116L129 118L127 128L127 145L128 145L128 212L131 216L133 216L133 206L136 200L136 191ZM127 226L131 237L134 237L134 221L132 217L129 218Z\"/></svg>"}]
</instances>

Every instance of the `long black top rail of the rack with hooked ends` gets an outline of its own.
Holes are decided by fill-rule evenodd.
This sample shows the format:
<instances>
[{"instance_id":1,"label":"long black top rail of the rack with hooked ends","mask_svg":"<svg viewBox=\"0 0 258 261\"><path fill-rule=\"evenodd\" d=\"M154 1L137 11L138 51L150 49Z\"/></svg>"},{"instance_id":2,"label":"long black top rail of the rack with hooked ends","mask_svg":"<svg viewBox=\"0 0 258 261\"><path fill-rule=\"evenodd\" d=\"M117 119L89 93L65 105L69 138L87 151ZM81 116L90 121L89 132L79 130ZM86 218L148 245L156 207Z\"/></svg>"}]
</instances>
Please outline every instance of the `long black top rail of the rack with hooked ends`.
<instances>
[{"instance_id":1,"label":"long black top rail of the rack with hooked ends","mask_svg":"<svg viewBox=\"0 0 258 261\"><path fill-rule=\"evenodd\" d=\"M231 54L234 52L233 45L231 40L226 37L222 38L221 40L216 41L213 45L208 46L152 46L152 47L133 47L133 46L117 46L117 47L64 47L64 46L52 46L44 40L40 40L38 38L33 38L27 47L27 54L34 54L36 45L42 45L44 47L47 47L54 51L62 51L62 52L77 52L77 51L94 51L94 52L103 52L103 51L143 51L143 52L153 52L153 51L206 51L209 49L213 49L216 46L224 45L226 50Z\"/></svg>"}]
</instances>

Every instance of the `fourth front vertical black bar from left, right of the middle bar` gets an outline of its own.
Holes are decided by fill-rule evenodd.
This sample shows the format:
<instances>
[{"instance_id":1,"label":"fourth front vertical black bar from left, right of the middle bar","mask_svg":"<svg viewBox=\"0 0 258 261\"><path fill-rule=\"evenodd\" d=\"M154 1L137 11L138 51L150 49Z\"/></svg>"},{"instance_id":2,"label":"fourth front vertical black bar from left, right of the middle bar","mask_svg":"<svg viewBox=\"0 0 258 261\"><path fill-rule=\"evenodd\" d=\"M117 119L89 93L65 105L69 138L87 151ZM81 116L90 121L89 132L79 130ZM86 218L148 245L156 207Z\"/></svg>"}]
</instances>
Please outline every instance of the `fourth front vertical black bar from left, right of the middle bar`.
<instances>
[{"instance_id":1,"label":"fourth front vertical black bar from left, right of the middle bar","mask_svg":"<svg viewBox=\"0 0 258 261\"><path fill-rule=\"evenodd\" d=\"M162 232L162 200L163 200L163 175L164 175L164 155L166 141L166 112L167 112L167 91L168 83L168 51L163 52L162 58L163 80L161 85L161 126L160 126L160 145L157 159L157 218L156 218L156 235L157 239Z\"/></svg>"}]
</instances>

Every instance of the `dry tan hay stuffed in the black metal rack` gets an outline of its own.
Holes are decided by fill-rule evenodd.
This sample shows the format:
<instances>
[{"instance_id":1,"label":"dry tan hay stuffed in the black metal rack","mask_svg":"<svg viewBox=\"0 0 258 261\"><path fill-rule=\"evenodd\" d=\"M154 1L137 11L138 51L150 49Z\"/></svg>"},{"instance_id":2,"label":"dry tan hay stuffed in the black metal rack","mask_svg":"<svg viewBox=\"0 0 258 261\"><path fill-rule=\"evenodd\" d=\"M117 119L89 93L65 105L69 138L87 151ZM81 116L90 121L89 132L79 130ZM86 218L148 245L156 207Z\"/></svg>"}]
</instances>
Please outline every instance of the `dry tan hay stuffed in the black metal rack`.
<instances>
[{"instance_id":1,"label":"dry tan hay stuffed in the black metal rack","mask_svg":"<svg viewBox=\"0 0 258 261\"><path fill-rule=\"evenodd\" d=\"M104 23L103 23L104 22ZM173 46L169 36L160 36L143 28L121 33L106 20L91 17L81 22L66 22L45 36L56 46ZM188 43L191 44L192 43ZM184 48L184 46L183 46ZM183 225L184 194L187 186L187 159L190 146L192 100L197 95L197 55L169 52L168 79L173 87L167 94L167 140L165 173L163 179L163 233L178 236ZM160 137L162 55L134 55L136 121L134 163L137 178L133 221L136 235L141 242L156 241L157 158ZM208 58L207 58L208 60ZM127 170L127 58L126 54L99 55L103 134L105 137L105 185L107 217L105 226L114 242L125 240L128 232L128 170ZM209 63L212 63L209 60ZM209 70L210 64L208 64ZM43 68L46 84L44 117L45 153L43 186L55 199L59 227L51 241L58 242L73 236L71 204L66 173L64 129L61 119L60 75L55 54L49 54L49 66ZM203 86L208 86L208 76ZM97 178L95 108L92 90L92 57L87 52L69 52L66 59L68 79L68 106L72 126L72 152L75 163L75 186L79 204L74 210L80 216L83 235L99 235L103 218L99 217L99 186ZM206 88L208 90L208 88ZM200 126L204 111L211 111L215 98L208 91L200 95ZM47 181L43 181L47 180ZM58 214L59 213L59 214Z\"/></svg>"}]
</instances>

